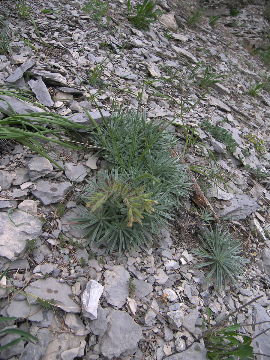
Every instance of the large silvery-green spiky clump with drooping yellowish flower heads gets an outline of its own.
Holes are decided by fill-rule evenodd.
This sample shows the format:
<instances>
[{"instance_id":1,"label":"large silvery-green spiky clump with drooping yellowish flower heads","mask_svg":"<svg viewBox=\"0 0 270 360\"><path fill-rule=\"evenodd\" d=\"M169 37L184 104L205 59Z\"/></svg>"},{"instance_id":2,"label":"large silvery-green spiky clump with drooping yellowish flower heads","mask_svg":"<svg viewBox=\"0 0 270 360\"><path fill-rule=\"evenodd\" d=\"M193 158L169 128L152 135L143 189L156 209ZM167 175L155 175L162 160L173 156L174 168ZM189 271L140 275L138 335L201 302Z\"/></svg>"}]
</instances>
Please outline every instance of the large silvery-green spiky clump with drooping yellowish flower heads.
<instances>
[{"instance_id":1,"label":"large silvery-green spiky clump with drooping yellowish flower heads","mask_svg":"<svg viewBox=\"0 0 270 360\"><path fill-rule=\"evenodd\" d=\"M96 156L115 165L110 175L104 170L97 182L91 179L88 187L81 187L85 206L78 206L77 227L86 230L86 245L107 243L111 253L118 244L121 254L122 249L152 241L158 226L173 219L174 206L190 191L190 175L173 156L176 140L162 126L147 121L139 108L124 114L113 106L108 122L103 119L103 125L91 131L90 141L102 149Z\"/></svg>"}]
</instances>

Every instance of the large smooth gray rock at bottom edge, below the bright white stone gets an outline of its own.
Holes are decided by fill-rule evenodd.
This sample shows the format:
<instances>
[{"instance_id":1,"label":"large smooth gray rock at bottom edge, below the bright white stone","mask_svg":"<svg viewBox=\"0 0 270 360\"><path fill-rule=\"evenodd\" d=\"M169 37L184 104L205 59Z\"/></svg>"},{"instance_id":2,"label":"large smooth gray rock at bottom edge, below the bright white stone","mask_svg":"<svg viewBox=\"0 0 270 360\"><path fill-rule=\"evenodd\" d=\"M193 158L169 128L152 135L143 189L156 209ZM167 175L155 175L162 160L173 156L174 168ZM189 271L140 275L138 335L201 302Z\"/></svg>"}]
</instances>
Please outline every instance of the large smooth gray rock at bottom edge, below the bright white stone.
<instances>
[{"instance_id":1,"label":"large smooth gray rock at bottom edge, below the bright white stone","mask_svg":"<svg viewBox=\"0 0 270 360\"><path fill-rule=\"evenodd\" d=\"M100 350L103 356L131 355L142 337L141 327L127 312L107 308L108 328L102 337Z\"/></svg>"}]
</instances>

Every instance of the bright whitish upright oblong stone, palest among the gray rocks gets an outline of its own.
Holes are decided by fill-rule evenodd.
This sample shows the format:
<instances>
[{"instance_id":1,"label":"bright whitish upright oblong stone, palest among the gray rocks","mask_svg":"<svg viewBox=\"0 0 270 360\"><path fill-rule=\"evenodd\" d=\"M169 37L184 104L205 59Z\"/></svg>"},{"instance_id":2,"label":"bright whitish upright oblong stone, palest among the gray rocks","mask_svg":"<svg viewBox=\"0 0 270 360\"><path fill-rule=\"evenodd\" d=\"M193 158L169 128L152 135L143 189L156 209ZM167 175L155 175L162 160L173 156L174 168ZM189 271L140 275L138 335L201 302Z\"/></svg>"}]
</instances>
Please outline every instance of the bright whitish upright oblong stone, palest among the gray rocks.
<instances>
[{"instance_id":1,"label":"bright whitish upright oblong stone, palest among the gray rocks","mask_svg":"<svg viewBox=\"0 0 270 360\"><path fill-rule=\"evenodd\" d=\"M90 280L82 293L82 313L86 318L95 320L98 318L99 299L103 293L103 286L96 280Z\"/></svg>"}]
</instances>

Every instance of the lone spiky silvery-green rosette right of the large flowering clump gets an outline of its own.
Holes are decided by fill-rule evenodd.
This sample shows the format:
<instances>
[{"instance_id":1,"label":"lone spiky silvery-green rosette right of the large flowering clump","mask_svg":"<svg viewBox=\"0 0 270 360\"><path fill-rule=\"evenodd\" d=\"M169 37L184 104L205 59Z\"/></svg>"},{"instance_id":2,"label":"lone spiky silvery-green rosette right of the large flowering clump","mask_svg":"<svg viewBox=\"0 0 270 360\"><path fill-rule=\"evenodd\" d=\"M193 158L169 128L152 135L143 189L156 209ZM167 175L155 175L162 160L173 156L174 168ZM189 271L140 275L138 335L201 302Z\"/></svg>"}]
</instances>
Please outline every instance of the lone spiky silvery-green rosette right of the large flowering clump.
<instances>
[{"instance_id":1,"label":"lone spiky silvery-green rosette right of the large flowering clump","mask_svg":"<svg viewBox=\"0 0 270 360\"><path fill-rule=\"evenodd\" d=\"M206 229L206 240L199 235L204 248L199 246L199 250L194 250L197 255L209 260L194 267L212 266L206 280L209 283L213 273L216 273L219 289L222 289L223 280L225 288L226 276L229 276L231 281L237 284L235 277L243 275L241 265L249 262L249 259L239 256L242 252L242 243L240 240L234 240L233 235L234 233L228 234L228 231L222 231L222 226L219 225L215 230Z\"/></svg>"}]
</instances>

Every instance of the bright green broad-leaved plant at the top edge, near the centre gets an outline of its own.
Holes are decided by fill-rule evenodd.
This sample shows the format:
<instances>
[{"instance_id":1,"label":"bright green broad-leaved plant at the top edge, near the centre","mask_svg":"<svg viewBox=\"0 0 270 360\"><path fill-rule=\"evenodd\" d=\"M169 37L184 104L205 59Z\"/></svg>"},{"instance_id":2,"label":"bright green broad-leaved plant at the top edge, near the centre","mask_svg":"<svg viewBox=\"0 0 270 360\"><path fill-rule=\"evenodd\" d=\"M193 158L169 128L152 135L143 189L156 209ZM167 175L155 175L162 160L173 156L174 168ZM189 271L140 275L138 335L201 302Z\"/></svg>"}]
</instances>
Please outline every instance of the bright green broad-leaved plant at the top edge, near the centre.
<instances>
[{"instance_id":1,"label":"bright green broad-leaved plant at the top edge, near the centre","mask_svg":"<svg viewBox=\"0 0 270 360\"><path fill-rule=\"evenodd\" d=\"M163 11L160 9L154 10L156 4L152 0L144 0L143 4L138 4L135 9L132 9L130 0L127 0L127 10L129 12L128 18L132 25L138 29L146 29L159 18Z\"/></svg>"}]
</instances>

